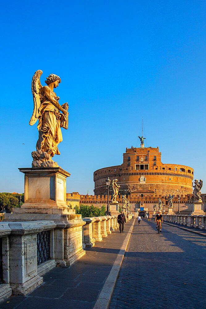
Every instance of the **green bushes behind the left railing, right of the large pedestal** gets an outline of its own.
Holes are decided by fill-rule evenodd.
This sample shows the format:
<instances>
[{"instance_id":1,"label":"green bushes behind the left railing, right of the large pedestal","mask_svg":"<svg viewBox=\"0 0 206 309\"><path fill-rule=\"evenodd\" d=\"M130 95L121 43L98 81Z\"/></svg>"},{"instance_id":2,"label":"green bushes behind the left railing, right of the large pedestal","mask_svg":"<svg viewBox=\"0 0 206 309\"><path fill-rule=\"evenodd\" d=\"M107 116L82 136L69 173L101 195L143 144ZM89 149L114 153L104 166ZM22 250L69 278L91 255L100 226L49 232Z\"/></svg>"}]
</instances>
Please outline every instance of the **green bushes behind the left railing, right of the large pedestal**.
<instances>
[{"instance_id":1,"label":"green bushes behind the left railing, right of the large pedestal","mask_svg":"<svg viewBox=\"0 0 206 309\"><path fill-rule=\"evenodd\" d=\"M81 214L82 218L91 218L91 217L101 217L105 216L106 207L103 204L101 208L95 207L94 205L76 205L74 207L76 214Z\"/></svg>"}]
</instances>

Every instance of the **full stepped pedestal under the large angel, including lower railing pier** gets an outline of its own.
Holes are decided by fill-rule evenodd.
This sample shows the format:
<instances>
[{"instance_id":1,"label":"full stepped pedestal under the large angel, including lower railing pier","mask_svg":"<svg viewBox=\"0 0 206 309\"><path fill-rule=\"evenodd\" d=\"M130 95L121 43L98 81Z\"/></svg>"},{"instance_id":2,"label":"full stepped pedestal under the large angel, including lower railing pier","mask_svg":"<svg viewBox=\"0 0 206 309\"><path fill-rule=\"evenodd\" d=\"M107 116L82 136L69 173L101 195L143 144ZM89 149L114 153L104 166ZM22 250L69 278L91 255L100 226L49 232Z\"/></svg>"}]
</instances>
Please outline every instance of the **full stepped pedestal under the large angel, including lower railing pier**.
<instances>
[{"instance_id":1,"label":"full stepped pedestal under the large angel, including lower railing pier","mask_svg":"<svg viewBox=\"0 0 206 309\"><path fill-rule=\"evenodd\" d=\"M82 215L66 204L66 178L70 174L61 167L19 168L24 173L24 204L5 214L4 221L22 222L52 220L54 260L70 266L85 255L82 248Z\"/></svg>"}]
</instances>

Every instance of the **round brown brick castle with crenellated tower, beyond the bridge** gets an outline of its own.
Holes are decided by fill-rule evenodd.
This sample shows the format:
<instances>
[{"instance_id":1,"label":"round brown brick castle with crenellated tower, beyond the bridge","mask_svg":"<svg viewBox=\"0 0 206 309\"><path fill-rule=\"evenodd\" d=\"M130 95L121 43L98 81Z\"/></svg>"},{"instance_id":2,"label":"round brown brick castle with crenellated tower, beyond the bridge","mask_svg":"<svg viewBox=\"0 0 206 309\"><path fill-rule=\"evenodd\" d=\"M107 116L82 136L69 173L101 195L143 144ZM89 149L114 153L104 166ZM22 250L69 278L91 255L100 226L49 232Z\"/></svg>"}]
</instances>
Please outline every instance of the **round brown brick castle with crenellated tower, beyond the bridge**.
<instances>
[{"instance_id":1,"label":"round brown brick castle with crenellated tower, beyond the bridge","mask_svg":"<svg viewBox=\"0 0 206 309\"><path fill-rule=\"evenodd\" d=\"M107 177L116 178L120 194L135 190L150 190L155 194L192 193L193 168L179 164L161 162L159 148L126 148L123 163L101 168L94 172L95 195L107 194Z\"/></svg>"}]
</instances>

